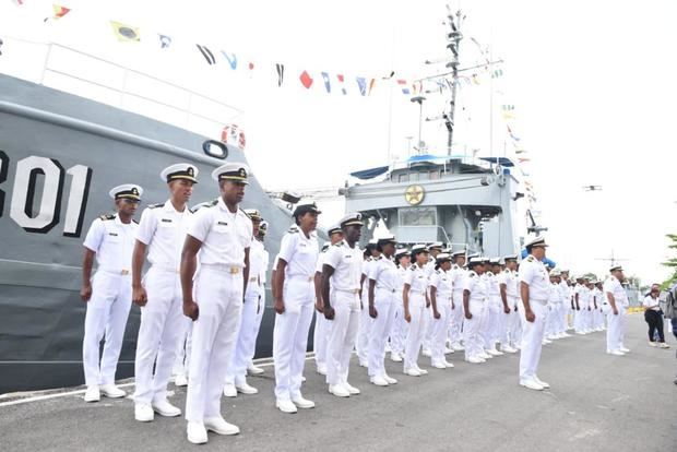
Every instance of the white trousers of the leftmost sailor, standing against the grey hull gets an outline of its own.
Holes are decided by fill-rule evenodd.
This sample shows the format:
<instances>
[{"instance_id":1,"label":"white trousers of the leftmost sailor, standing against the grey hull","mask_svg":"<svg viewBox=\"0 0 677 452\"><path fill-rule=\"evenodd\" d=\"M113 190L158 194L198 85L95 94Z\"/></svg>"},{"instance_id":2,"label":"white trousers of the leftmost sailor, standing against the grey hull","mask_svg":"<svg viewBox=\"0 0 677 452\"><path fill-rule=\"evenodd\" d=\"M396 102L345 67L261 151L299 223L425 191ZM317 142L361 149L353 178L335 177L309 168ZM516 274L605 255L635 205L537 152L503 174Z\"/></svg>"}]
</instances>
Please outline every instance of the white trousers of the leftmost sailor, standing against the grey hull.
<instances>
[{"instance_id":1,"label":"white trousers of the leftmost sailor, standing against the grey hull","mask_svg":"<svg viewBox=\"0 0 677 452\"><path fill-rule=\"evenodd\" d=\"M115 382L131 306L132 285L129 275L102 270L94 274L82 340L82 364L87 386ZM99 345L104 336L106 342L99 367Z\"/></svg>"}]
</instances>

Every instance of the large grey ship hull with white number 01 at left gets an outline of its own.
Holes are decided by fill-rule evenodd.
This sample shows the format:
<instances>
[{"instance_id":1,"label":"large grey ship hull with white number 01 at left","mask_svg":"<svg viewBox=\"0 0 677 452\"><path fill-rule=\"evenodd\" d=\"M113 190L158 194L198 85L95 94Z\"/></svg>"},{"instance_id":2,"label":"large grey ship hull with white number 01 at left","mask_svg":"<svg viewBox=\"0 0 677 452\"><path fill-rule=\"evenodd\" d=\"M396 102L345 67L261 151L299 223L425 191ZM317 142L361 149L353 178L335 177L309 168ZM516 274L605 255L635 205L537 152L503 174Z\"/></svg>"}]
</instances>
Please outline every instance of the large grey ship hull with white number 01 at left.
<instances>
[{"instance_id":1,"label":"large grey ship hull with white number 01 at left","mask_svg":"<svg viewBox=\"0 0 677 452\"><path fill-rule=\"evenodd\" d=\"M84 382L85 304L79 289L87 228L112 210L107 193L117 185L140 183L143 204L164 202L167 191L158 173L173 163L200 168L191 204L216 198L211 171L224 160L203 152L205 140L0 75L0 393ZM229 147L227 160L246 157ZM290 216L271 202L256 174L242 207L259 209L269 221L266 249L275 255ZM132 307L117 378L133 373L139 318ZM268 308L259 356L271 354L273 321Z\"/></svg>"}]
</instances>

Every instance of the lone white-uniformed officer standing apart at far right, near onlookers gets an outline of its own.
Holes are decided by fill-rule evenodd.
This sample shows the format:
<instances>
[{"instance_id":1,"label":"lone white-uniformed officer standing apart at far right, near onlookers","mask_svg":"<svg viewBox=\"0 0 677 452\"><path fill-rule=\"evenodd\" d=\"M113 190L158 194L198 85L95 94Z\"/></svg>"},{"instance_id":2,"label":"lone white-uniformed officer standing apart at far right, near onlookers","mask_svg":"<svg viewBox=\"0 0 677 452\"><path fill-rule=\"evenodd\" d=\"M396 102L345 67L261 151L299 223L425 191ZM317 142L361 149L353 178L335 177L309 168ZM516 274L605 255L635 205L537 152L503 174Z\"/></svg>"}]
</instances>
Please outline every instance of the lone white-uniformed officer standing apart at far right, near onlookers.
<instances>
[{"instance_id":1,"label":"lone white-uniformed officer standing apart at far right, near onlookers","mask_svg":"<svg viewBox=\"0 0 677 452\"><path fill-rule=\"evenodd\" d=\"M608 312L606 314L606 353L616 356L623 356L630 353L628 348L623 346L623 335L626 328L626 317L628 307L628 295L622 287L622 282L626 281L622 266L614 265L609 269L611 273L609 277L604 282L604 293L609 304Z\"/></svg>"}]
</instances>

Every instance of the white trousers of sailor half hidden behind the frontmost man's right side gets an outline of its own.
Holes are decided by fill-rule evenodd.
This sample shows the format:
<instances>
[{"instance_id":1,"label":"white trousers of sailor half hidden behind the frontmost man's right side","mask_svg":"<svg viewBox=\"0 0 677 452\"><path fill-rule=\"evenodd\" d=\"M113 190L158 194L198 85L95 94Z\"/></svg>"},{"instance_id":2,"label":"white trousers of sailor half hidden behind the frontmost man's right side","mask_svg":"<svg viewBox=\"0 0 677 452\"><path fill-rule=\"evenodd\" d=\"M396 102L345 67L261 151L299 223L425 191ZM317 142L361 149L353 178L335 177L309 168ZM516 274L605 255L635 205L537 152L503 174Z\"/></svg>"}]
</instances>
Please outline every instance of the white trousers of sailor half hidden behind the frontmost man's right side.
<instances>
[{"instance_id":1,"label":"white trousers of sailor half hidden behind the frontmost man's right side","mask_svg":"<svg viewBox=\"0 0 677 452\"><path fill-rule=\"evenodd\" d=\"M252 286L250 287L250 285ZM242 304L242 320L237 332L235 350L226 371L226 384L242 384L247 380L247 365L257 347L257 332L259 330L257 328L257 312L263 309L259 294L259 285L250 281Z\"/></svg>"}]
</instances>

